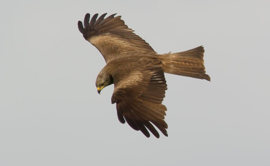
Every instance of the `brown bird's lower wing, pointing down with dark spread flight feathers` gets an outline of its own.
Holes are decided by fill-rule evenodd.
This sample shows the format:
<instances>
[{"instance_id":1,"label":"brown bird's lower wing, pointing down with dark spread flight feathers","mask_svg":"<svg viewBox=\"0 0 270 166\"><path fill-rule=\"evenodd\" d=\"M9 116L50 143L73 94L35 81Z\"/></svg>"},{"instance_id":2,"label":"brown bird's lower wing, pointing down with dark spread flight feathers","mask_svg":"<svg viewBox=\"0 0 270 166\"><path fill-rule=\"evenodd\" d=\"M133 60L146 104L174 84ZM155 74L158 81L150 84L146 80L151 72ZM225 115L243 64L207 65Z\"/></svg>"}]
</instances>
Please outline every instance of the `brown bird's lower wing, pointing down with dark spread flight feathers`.
<instances>
[{"instance_id":1,"label":"brown bird's lower wing, pointing down with dark spread flight feathers","mask_svg":"<svg viewBox=\"0 0 270 166\"><path fill-rule=\"evenodd\" d=\"M162 105L167 84L160 61L142 58L137 65L131 65L133 70L128 74L123 74L128 71L123 70L112 75L115 84L112 103L116 103L119 121L127 122L146 137L150 137L148 130L157 138L160 136L152 124L168 136L168 125L164 121L167 109ZM124 76L117 78L119 75Z\"/></svg>"}]
</instances>

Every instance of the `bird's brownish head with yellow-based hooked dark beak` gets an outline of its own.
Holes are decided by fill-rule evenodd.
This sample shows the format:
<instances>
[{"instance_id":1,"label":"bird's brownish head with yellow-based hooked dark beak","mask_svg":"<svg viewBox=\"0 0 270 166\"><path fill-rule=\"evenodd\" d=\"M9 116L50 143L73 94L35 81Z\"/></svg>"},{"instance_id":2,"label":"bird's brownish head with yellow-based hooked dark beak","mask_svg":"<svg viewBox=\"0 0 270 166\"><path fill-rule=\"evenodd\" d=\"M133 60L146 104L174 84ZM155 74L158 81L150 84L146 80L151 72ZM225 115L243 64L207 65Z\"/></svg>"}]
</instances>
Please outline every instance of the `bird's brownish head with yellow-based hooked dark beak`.
<instances>
[{"instance_id":1,"label":"bird's brownish head with yellow-based hooked dark beak","mask_svg":"<svg viewBox=\"0 0 270 166\"><path fill-rule=\"evenodd\" d=\"M101 70L96 79L96 87L98 89L98 94L100 94L100 91L104 87L107 87L111 84L113 84L113 77L108 72Z\"/></svg>"}]
</instances>

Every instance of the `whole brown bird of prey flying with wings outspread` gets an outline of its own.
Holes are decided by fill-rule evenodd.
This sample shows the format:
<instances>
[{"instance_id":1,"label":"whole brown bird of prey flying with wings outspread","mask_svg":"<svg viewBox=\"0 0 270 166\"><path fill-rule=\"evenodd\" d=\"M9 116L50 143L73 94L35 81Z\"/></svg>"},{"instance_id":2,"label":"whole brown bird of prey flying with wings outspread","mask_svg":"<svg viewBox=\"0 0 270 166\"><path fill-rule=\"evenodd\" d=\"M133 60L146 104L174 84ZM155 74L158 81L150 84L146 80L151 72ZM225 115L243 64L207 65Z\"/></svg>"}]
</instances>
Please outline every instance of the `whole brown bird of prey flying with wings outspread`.
<instances>
[{"instance_id":1,"label":"whole brown bird of prey flying with wings outspread","mask_svg":"<svg viewBox=\"0 0 270 166\"><path fill-rule=\"evenodd\" d=\"M150 137L149 131L159 138L157 129L168 136L168 125L164 121L167 109L162 104L167 90L164 73L210 81L203 64L203 46L160 55L133 33L121 16L112 14L105 18L106 14L99 18L95 14L90 20L87 13L84 25L78 22L85 40L101 52L107 64L96 79L98 93L114 84L111 102L116 103L121 123L127 122L147 138Z\"/></svg>"}]
</instances>

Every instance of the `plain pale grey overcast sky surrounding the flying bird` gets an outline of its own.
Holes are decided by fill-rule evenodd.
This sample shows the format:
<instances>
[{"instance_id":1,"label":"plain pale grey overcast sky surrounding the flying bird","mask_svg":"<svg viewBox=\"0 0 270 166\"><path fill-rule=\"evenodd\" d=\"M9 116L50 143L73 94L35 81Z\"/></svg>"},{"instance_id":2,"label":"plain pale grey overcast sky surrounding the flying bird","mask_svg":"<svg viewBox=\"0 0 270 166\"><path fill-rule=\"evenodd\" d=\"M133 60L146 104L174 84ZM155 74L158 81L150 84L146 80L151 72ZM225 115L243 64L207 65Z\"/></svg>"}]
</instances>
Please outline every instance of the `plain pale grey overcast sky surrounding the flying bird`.
<instances>
[{"instance_id":1,"label":"plain pale grey overcast sky surrounding the flying bird","mask_svg":"<svg viewBox=\"0 0 270 166\"><path fill-rule=\"evenodd\" d=\"M270 165L269 1L0 2L0 165ZM119 123L85 13L156 52L203 45L211 82L165 74L169 137Z\"/></svg>"}]
</instances>

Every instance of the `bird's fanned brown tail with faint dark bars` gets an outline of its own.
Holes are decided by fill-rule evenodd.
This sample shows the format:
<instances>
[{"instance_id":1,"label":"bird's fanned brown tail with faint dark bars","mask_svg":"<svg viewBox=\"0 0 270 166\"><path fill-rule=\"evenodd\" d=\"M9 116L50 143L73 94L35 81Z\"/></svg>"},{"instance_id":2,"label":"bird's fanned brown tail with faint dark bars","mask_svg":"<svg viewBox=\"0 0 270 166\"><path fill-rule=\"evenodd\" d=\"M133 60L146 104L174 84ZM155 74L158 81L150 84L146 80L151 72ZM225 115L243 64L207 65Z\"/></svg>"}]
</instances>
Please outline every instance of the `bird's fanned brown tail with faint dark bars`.
<instances>
[{"instance_id":1,"label":"bird's fanned brown tail with faint dark bars","mask_svg":"<svg viewBox=\"0 0 270 166\"><path fill-rule=\"evenodd\" d=\"M159 55L159 58L165 73L210 81L210 77L205 74L203 53L203 46L200 46L184 52L169 52Z\"/></svg>"}]
</instances>

